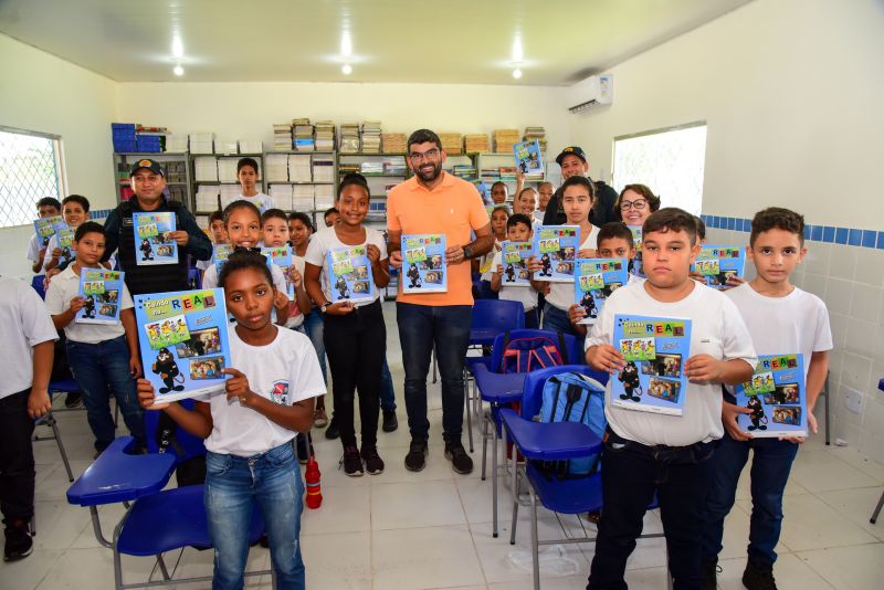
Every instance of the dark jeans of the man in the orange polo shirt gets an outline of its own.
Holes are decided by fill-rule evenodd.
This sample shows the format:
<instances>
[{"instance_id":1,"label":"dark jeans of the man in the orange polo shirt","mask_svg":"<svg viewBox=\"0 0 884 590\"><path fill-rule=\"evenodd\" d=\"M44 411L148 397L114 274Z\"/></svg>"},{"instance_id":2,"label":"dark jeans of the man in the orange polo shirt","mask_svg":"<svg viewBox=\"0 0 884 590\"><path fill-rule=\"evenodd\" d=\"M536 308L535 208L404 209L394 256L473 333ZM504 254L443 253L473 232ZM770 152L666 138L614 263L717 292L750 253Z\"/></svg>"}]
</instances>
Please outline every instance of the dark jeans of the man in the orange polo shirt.
<instances>
[{"instance_id":1,"label":"dark jeans of the man in the orange polo shirt","mask_svg":"<svg viewBox=\"0 0 884 590\"><path fill-rule=\"evenodd\" d=\"M402 365L406 369L406 411L411 438L430 436L427 419L427 373L435 345L442 380L442 429L445 442L460 443L463 431L463 366L470 345L470 305L396 304Z\"/></svg>"}]
</instances>

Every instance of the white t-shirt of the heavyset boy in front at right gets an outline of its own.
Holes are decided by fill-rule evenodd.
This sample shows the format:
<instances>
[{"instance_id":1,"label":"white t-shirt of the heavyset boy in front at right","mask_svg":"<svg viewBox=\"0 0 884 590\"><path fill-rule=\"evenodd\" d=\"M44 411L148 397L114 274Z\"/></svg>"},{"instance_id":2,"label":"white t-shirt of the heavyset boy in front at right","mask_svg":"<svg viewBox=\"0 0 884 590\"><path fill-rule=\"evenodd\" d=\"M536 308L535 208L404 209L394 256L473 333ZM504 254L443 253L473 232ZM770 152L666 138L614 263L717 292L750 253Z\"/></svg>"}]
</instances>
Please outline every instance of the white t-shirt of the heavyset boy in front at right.
<instances>
[{"instance_id":1,"label":"white t-shirt of the heavyset boy in front at right","mask_svg":"<svg viewBox=\"0 0 884 590\"><path fill-rule=\"evenodd\" d=\"M691 357L709 355L714 359L743 359L755 368L758 358L749 330L739 309L723 293L701 285L682 301L662 303L648 294L645 281L620 287L604 303L592 326L586 348L613 345L614 316L630 314L665 318L690 318ZM686 360L686 359L683 359ZM617 379L615 375L611 379ZM684 414L667 415L615 408L611 404L611 380L606 388L604 415L619 436L646 445L686 446L724 435L722 425L722 387L719 383L687 383Z\"/></svg>"}]
</instances>

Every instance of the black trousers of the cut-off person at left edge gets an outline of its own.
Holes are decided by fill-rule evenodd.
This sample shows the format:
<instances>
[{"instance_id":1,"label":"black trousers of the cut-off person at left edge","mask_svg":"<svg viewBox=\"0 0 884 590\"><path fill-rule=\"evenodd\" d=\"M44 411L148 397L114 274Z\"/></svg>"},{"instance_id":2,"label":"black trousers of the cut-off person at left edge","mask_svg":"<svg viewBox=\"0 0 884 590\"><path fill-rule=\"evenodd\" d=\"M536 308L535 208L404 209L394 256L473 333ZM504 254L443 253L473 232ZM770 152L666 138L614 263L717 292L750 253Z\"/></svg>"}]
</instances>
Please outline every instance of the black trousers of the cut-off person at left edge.
<instances>
[{"instance_id":1,"label":"black trousers of the cut-off person at left edge","mask_svg":"<svg viewBox=\"0 0 884 590\"><path fill-rule=\"evenodd\" d=\"M30 389L0 399L0 512L3 523L30 523L34 515L34 421L28 415Z\"/></svg>"}]
</instances>

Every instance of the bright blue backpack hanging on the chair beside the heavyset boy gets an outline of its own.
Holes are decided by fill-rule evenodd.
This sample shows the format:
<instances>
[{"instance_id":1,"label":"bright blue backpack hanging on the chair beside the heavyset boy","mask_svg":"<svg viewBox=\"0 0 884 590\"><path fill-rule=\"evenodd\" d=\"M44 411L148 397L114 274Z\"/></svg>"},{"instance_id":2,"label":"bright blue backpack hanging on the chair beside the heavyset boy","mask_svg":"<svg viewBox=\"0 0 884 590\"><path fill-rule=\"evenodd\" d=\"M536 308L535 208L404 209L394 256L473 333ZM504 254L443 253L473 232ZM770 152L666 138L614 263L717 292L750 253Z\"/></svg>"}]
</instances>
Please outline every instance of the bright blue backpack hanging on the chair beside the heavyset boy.
<instances>
[{"instance_id":1,"label":"bright blue backpack hanging on the chair beside the heavyset boy","mask_svg":"<svg viewBox=\"0 0 884 590\"><path fill-rule=\"evenodd\" d=\"M544 384L544 401L537 422L581 422L604 435L604 386L586 375L554 375ZM596 473L599 453L566 461L545 461L543 471L560 478L586 477Z\"/></svg>"}]
</instances>

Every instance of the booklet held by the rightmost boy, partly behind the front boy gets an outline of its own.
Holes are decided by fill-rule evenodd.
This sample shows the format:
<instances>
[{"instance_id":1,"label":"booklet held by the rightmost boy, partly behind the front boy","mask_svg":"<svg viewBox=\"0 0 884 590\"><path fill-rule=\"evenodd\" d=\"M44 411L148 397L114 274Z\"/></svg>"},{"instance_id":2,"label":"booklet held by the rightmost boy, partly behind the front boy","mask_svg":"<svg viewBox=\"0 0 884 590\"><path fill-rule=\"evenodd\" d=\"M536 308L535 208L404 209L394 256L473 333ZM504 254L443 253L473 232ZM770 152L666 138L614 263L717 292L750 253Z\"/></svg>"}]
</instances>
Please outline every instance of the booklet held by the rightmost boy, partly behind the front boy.
<instances>
[{"instance_id":1,"label":"booklet held by the rightmost boy, partly behind the front boy","mask_svg":"<svg viewBox=\"0 0 884 590\"><path fill-rule=\"evenodd\" d=\"M808 399L802 355L758 358L750 381L735 388L737 405L750 414L738 414L737 423L755 438L807 436Z\"/></svg>"}]
</instances>

